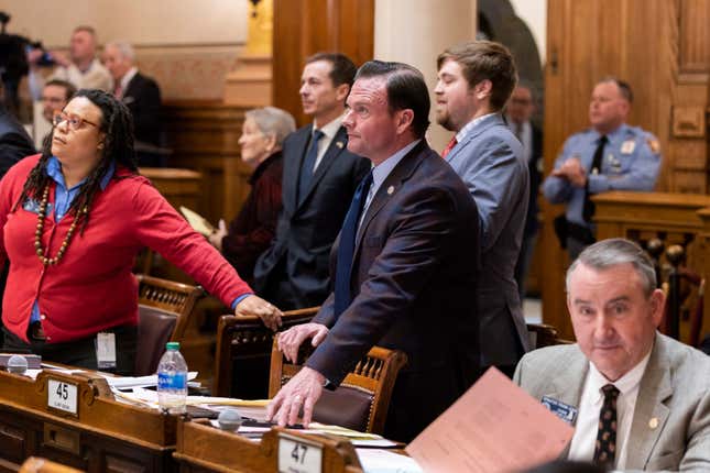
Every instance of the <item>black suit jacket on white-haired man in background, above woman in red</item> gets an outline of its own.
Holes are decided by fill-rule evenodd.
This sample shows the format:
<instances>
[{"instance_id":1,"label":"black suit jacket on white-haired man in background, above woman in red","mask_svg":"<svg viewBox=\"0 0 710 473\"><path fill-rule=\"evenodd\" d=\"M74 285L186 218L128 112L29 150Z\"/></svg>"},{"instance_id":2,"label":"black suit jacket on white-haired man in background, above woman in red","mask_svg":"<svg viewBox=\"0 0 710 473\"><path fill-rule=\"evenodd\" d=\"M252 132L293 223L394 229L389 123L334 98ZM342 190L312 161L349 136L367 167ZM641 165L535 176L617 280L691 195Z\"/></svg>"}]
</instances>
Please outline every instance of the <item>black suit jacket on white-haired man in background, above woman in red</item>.
<instances>
[{"instance_id":1,"label":"black suit jacket on white-haired man in background, above woman in red","mask_svg":"<svg viewBox=\"0 0 710 473\"><path fill-rule=\"evenodd\" d=\"M121 101L133 116L135 140L157 146L161 133L161 89L152 78L136 73Z\"/></svg>"}]
</instances>

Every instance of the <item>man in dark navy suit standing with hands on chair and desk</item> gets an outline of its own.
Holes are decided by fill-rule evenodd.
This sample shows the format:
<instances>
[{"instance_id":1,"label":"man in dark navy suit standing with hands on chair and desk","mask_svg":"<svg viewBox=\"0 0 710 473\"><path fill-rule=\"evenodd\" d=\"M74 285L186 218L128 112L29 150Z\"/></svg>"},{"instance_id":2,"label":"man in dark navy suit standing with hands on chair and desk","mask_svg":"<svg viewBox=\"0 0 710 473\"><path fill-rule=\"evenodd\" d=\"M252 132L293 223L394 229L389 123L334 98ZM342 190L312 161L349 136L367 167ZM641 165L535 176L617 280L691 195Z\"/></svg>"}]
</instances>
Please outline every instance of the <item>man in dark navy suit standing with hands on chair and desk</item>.
<instances>
[{"instance_id":1,"label":"man in dark navy suit standing with hands on chair and desk","mask_svg":"<svg viewBox=\"0 0 710 473\"><path fill-rule=\"evenodd\" d=\"M304 369L274 397L269 417L309 422L323 387L339 385L373 346L402 350L385 436L411 441L478 375L477 208L454 169L427 145L429 98L422 73L369 62L343 120L348 148L373 164L331 252L335 290L312 323L278 339Z\"/></svg>"}]
</instances>

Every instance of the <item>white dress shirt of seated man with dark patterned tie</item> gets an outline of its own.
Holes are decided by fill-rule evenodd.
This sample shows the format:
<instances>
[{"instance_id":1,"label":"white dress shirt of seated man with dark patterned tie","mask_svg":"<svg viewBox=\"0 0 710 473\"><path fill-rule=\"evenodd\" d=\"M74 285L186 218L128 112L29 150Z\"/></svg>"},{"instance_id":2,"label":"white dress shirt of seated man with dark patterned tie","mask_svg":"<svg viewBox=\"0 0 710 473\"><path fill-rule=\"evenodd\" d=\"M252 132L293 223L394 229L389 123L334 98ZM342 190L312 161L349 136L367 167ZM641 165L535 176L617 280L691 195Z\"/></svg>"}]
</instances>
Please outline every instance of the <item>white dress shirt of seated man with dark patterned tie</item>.
<instances>
[{"instance_id":1,"label":"white dress shirt of seated man with dark patterned tie","mask_svg":"<svg viewBox=\"0 0 710 473\"><path fill-rule=\"evenodd\" d=\"M616 455L615 465L623 470L626 463L626 444L631 424L634 418L634 408L638 397L638 385L646 371L651 350L646 356L634 366L629 373L611 383L597 370L594 363L589 362L589 371L585 380L582 396L579 402L575 436L569 447L569 460L592 461L594 458L594 446L597 443L597 431L599 429L599 413L604 403L604 394L601 388L607 384L613 384L619 389L616 399Z\"/></svg>"}]
</instances>

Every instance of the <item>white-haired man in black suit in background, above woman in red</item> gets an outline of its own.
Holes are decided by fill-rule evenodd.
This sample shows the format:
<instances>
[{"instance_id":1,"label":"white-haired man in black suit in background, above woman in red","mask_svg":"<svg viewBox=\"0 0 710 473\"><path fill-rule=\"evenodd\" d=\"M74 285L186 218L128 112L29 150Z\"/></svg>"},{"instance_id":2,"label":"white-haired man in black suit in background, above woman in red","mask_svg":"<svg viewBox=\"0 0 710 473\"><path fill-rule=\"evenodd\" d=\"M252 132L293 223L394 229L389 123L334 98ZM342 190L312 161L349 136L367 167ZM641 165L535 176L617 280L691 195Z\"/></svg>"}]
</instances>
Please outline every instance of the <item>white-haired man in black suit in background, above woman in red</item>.
<instances>
[{"instance_id":1,"label":"white-haired man in black suit in background, above woman in red","mask_svg":"<svg viewBox=\"0 0 710 473\"><path fill-rule=\"evenodd\" d=\"M103 62L113 77L113 95L133 116L139 166L164 165L155 150L161 134L160 87L151 77L139 73L135 52L125 42L108 43L103 48Z\"/></svg>"}]
</instances>

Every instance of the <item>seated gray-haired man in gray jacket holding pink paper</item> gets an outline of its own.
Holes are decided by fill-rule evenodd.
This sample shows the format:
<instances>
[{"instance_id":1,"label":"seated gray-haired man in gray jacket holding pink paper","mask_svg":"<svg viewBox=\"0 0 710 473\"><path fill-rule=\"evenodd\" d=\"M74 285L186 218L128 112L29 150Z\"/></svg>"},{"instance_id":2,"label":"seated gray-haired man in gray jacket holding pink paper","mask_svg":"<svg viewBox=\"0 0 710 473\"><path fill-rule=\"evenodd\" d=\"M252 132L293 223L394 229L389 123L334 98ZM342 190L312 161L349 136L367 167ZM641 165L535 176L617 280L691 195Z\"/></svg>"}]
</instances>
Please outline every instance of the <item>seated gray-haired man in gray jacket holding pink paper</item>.
<instances>
[{"instance_id":1,"label":"seated gray-haired man in gray jacket holding pink paper","mask_svg":"<svg viewBox=\"0 0 710 473\"><path fill-rule=\"evenodd\" d=\"M528 353L514 381L567 414L569 459L710 471L710 358L656 332L664 302L651 258L627 240L587 248L567 271L577 343Z\"/></svg>"}]
</instances>

